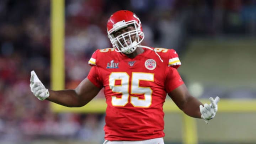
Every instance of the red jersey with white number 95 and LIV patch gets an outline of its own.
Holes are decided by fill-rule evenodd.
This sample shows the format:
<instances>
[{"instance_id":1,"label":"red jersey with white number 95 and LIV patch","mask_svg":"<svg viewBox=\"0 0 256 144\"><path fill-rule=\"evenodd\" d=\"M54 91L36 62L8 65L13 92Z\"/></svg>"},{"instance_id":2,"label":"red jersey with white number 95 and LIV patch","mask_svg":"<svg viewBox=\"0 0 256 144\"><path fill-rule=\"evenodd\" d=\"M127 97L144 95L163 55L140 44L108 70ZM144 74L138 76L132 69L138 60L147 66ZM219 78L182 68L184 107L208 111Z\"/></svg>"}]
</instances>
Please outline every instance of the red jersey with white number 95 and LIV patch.
<instances>
[{"instance_id":1,"label":"red jersey with white number 95 and LIV patch","mask_svg":"<svg viewBox=\"0 0 256 144\"><path fill-rule=\"evenodd\" d=\"M166 93L183 81L176 68L181 65L173 49L144 49L128 58L113 48L98 49L89 60L87 78L104 87L106 97L106 140L145 140L164 137L163 104Z\"/></svg>"}]
</instances>

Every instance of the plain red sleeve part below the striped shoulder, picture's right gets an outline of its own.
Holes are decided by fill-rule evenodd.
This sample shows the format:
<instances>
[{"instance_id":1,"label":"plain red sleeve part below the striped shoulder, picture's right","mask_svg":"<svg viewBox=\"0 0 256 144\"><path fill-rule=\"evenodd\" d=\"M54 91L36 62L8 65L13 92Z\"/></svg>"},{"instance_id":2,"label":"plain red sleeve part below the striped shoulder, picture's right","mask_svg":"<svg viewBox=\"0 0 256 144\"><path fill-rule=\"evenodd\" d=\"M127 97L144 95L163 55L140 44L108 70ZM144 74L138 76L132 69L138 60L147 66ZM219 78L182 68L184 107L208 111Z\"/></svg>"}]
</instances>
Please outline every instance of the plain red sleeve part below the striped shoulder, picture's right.
<instances>
[{"instance_id":1,"label":"plain red sleeve part below the striped shoulder, picture's right","mask_svg":"<svg viewBox=\"0 0 256 144\"><path fill-rule=\"evenodd\" d=\"M165 79L165 90L167 93L184 84L180 74L175 68L168 68Z\"/></svg>"}]
</instances>

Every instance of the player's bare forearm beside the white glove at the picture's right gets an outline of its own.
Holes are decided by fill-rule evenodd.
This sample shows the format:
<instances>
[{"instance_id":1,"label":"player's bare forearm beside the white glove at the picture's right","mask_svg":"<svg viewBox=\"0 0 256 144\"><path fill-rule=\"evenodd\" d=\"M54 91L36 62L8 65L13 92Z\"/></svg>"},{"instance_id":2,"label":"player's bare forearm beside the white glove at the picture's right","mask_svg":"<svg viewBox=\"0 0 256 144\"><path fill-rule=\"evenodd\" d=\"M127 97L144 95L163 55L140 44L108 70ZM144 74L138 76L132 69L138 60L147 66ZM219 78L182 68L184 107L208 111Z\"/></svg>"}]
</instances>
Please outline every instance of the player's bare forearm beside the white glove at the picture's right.
<instances>
[{"instance_id":1,"label":"player's bare forearm beside the white glove at the picture's right","mask_svg":"<svg viewBox=\"0 0 256 144\"><path fill-rule=\"evenodd\" d=\"M201 118L201 112L199 110L199 106L203 105L197 98L193 96L189 96L184 103L182 111L186 113L188 116Z\"/></svg>"}]
</instances>

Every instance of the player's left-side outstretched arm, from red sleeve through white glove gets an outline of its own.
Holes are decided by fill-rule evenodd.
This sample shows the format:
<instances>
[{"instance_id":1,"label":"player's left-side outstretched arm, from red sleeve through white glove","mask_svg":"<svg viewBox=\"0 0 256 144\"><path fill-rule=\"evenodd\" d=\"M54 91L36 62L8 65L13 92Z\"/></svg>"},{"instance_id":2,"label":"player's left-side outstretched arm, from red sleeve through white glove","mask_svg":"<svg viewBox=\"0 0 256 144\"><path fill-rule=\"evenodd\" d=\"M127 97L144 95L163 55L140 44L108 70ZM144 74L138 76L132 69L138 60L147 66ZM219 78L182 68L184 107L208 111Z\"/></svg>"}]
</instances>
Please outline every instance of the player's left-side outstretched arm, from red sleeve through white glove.
<instances>
[{"instance_id":1,"label":"player's left-side outstretched arm, from red sleeve through white glove","mask_svg":"<svg viewBox=\"0 0 256 144\"><path fill-rule=\"evenodd\" d=\"M67 107L84 106L100 91L100 88L92 84L92 82L87 78L84 79L74 90L48 90L38 79L34 71L31 71L30 88L34 96L39 100L47 99Z\"/></svg>"}]
</instances>

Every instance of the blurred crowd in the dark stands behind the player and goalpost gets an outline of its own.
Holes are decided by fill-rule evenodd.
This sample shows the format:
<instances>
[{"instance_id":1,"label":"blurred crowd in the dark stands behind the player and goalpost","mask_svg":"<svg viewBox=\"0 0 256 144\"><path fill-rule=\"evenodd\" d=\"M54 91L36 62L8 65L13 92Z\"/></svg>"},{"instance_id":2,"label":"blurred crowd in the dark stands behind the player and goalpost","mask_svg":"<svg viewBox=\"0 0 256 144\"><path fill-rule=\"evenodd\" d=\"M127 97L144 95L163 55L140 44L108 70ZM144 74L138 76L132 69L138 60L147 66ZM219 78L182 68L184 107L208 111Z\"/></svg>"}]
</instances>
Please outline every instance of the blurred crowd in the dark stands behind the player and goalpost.
<instances>
[{"instance_id":1,"label":"blurred crowd in the dark stands behind the player and goalpost","mask_svg":"<svg viewBox=\"0 0 256 144\"><path fill-rule=\"evenodd\" d=\"M182 54L190 36L256 36L255 0L66 0L66 88L90 70L96 49L111 47L106 23L121 9L142 21L144 44ZM50 87L50 1L0 1L0 143L38 138L103 140L103 114L53 113L30 91L35 70ZM103 97L101 95L100 97ZM97 135L98 134L98 135Z\"/></svg>"}]
</instances>

